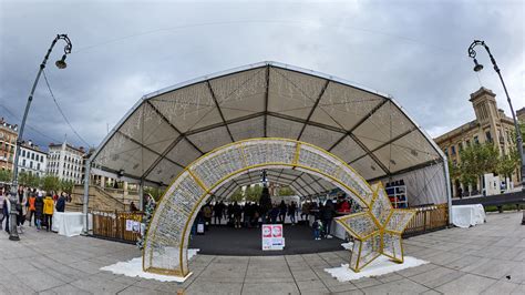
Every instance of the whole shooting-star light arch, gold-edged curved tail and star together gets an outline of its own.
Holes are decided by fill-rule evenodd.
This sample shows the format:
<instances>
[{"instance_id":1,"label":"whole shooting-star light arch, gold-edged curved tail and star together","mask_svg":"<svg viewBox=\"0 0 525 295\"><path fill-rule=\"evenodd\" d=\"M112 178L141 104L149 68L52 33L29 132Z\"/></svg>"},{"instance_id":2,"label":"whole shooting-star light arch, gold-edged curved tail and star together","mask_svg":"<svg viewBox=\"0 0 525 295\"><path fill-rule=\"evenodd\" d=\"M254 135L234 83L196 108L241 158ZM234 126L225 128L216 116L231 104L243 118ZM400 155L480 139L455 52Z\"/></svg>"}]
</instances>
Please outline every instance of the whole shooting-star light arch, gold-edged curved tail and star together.
<instances>
[{"instance_id":1,"label":"whole shooting-star light arch, gold-edged curved tail and star together","mask_svg":"<svg viewBox=\"0 0 525 295\"><path fill-rule=\"evenodd\" d=\"M339 186L364 210L337 220L356 238L350 260L353 271L358 272L381 254L403 261L401 234L413 216L412 211L393 210L380 185L370 186L344 161L321 148L288 139L265 138L218 148L175 177L150 224L143 269L182 277L189 275L188 237L204 202L229 180L249 171L272 167L318 175Z\"/></svg>"}]
</instances>

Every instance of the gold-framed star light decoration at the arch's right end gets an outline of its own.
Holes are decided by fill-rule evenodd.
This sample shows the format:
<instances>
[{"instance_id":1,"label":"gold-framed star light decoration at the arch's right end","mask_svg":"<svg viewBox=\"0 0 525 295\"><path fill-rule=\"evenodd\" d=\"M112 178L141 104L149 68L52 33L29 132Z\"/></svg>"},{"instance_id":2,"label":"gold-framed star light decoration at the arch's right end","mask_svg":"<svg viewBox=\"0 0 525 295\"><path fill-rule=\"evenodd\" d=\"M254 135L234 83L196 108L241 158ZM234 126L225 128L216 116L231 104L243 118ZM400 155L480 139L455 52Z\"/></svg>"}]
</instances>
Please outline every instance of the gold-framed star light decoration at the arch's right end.
<instances>
[{"instance_id":1,"label":"gold-framed star light decoration at the arch's right end","mask_svg":"<svg viewBox=\"0 0 525 295\"><path fill-rule=\"evenodd\" d=\"M413 210L393 208L381 183L372 190L372 201L363 212L336 218L354 237L349 267L357 273L380 255L403 263L401 235L415 214Z\"/></svg>"}]
</instances>

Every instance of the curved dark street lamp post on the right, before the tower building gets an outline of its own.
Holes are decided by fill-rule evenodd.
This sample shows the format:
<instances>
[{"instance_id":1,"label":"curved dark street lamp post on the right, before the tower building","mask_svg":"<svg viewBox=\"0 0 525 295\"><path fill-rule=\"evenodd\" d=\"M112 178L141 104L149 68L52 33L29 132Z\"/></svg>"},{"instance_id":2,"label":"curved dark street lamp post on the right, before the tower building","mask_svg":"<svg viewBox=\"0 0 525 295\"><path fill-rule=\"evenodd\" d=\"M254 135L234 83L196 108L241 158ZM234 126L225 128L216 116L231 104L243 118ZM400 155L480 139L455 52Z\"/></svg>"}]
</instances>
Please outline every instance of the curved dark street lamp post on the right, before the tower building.
<instances>
[{"instance_id":1,"label":"curved dark street lamp post on the right, before the tower building","mask_svg":"<svg viewBox=\"0 0 525 295\"><path fill-rule=\"evenodd\" d=\"M519 153L519 159L522 160L522 191L525 191L525 175L524 175L525 159L524 159L524 155L523 155L523 139L522 139L522 132L519 130L519 125L518 125L517 120L516 120L516 114L514 113L514 108L512 106L511 96L508 96L508 91L507 91L507 88L505 85L505 82L503 81L503 77L502 77L502 73L500 71L500 68L497 67L496 60L492 55L491 49L488 49L488 47L485 44L485 41L474 40L474 42L472 42L472 44L469 47L469 57L471 57L474 60L474 71L478 72L478 71L483 70L483 65L477 63L476 52L474 51L474 48L477 47L477 45L484 47L486 52L488 53L488 57L491 58L492 65L494 65L494 71L496 71L497 75L500 77L500 81L502 81L503 90L505 90L505 95L507 96L508 106L511 106L511 113L512 113L512 118L514 120L514 128L516 129L517 152Z\"/></svg>"}]
</instances>

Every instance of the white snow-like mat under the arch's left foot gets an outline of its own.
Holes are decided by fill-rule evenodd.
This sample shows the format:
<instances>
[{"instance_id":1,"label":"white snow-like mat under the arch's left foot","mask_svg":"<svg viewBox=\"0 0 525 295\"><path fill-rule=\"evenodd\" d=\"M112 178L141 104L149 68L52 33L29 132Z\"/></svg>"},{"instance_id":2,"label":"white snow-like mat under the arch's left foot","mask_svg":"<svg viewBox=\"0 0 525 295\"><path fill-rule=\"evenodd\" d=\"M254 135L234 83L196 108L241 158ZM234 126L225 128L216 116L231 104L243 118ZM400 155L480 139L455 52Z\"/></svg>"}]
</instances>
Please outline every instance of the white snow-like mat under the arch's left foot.
<instances>
[{"instance_id":1,"label":"white snow-like mat under the arch's left foot","mask_svg":"<svg viewBox=\"0 0 525 295\"><path fill-rule=\"evenodd\" d=\"M188 261L193 256L197 255L198 251L199 251L198 248L188 248ZM125 276L131 276L131 277L138 276L143 278L153 278L161 282L183 283L189 276L187 275L186 277L176 277L176 276L169 276L169 275L157 275L157 274L146 273L142 269L142 257L136 257L128 262L117 262L115 264L102 267L101 271L107 271L117 275L125 275Z\"/></svg>"}]
</instances>

